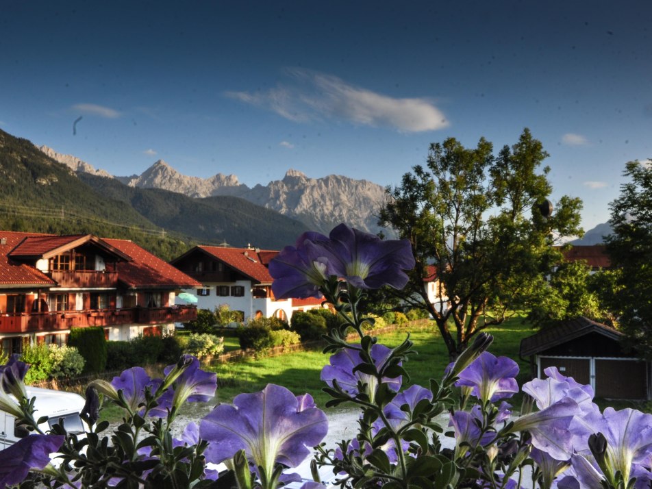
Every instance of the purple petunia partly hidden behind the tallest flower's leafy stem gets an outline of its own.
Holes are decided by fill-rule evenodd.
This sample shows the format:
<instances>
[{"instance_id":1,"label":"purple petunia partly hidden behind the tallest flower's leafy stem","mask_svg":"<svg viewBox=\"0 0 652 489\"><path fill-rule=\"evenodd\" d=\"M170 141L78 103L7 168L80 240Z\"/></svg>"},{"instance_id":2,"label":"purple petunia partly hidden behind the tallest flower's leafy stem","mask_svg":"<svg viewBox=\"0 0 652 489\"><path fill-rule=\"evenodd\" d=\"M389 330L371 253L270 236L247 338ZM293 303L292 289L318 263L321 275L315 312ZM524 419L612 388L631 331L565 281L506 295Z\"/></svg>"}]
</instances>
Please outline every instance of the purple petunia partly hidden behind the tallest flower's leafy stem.
<instances>
[{"instance_id":1,"label":"purple petunia partly hidden behind the tallest flower's leafy stem","mask_svg":"<svg viewBox=\"0 0 652 489\"><path fill-rule=\"evenodd\" d=\"M389 358L392 350L383 344L374 344L371 347L371 358L376 368L381 366ZM362 363L362 356L357 350L344 349L331 355L330 365L325 366L321 371L321 379L329 386L333 386L333 381L337 381L338 386L355 397L358 395L358 383L366 384L366 394L373 402L376 390L378 388L378 380L372 375L362 373L360 371L353 372L353 369ZM394 377L393 379L384 378L382 381L388 384L391 390L396 392L401 388L401 376Z\"/></svg>"}]
</instances>

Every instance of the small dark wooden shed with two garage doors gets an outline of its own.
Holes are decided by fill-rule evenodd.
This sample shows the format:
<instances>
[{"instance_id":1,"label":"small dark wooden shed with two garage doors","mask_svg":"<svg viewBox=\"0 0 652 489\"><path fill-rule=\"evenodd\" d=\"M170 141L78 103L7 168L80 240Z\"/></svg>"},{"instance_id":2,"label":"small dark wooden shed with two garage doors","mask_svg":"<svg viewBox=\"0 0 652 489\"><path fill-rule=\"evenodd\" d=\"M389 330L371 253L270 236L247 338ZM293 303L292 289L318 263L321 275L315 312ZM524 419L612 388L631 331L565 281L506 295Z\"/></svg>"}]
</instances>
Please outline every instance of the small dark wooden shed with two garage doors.
<instances>
[{"instance_id":1,"label":"small dark wooden shed with two garage doors","mask_svg":"<svg viewBox=\"0 0 652 489\"><path fill-rule=\"evenodd\" d=\"M626 352L620 331L579 317L542 329L521 340L521 358L530 358L532 374L544 376L544 368L581 384L590 384L597 397L652 399L651 363Z\"/></svg>"}]
</instances>

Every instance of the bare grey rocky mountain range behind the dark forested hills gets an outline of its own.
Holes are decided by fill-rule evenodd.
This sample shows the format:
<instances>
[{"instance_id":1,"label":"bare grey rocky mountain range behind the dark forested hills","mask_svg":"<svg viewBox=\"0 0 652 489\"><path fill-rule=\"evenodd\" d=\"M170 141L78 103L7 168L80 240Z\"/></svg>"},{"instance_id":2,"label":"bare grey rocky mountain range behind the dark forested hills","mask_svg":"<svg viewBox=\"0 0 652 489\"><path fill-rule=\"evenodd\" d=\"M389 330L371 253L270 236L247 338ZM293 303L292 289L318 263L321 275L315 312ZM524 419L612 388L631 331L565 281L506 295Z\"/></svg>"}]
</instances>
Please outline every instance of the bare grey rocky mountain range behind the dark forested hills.
<instances>
[{"instance_id":1,"label":"bare grey rocky mountain range behind the dark forested hills","mask_svg":"<svg viewBox=\"0 0 652 489\"><path fill-rule=\"evenodd\" d=\"M78 175L112 178L131 188L168 190L193 199L239 197L324 234L342 222L372 233L381 229L377 225L377 214L384 203L385 190L371 181L341 175L315 179L290 169L281 180L249 188L235 175L217 173L206 179L182 175L163 160L158 160L140 175L112 177L74 156L62 155L46 146L39 149ZM91 186L93 181L86 179Z\"/></svg>"}]
</instances>

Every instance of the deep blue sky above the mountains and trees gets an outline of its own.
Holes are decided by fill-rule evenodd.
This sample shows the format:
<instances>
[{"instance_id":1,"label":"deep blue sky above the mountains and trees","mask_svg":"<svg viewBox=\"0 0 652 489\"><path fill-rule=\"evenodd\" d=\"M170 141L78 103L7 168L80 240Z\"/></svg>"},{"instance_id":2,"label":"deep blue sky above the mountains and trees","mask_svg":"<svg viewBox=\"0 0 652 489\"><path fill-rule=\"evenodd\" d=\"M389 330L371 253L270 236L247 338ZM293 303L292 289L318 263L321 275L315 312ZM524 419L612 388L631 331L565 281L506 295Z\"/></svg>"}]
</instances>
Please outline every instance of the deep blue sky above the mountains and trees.
<instances>
[{"instance_id":1,"label":"deep blue sky above the mountains and trees","mask_svg":"<svg viewBox=\"0 0 652 489\"><path fill-rule=\"evenodd\" d=\"M431 142L529 127L553 201L605 222L652 158L652 2L456 3L3 0L0 128L114 175L385 186Z\"/></svg>"}]
</instances>

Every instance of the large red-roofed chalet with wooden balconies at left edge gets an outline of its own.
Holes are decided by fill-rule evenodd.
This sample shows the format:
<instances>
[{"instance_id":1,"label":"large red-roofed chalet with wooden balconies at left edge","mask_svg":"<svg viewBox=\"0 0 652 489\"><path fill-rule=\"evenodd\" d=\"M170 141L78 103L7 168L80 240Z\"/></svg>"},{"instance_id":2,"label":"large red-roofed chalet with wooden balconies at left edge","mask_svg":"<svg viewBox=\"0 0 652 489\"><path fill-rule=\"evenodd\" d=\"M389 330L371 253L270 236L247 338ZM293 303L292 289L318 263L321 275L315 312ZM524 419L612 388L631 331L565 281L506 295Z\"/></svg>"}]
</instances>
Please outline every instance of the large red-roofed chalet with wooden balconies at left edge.
<instances>
[{"instance_id":1,"label":"large red-roofed chalet with wooden balconies at left edge","mask_svg":"<svg viewBox=\"0 0 652 489\"><path fill-rule=\"evenodd\" d=\"M0 231L0 347L65 344L73 327L103 327L108 340L162 334L197 318L175 293L198 286L131 241Z\"/></svg>"}]
</instances>

